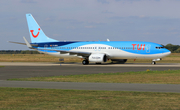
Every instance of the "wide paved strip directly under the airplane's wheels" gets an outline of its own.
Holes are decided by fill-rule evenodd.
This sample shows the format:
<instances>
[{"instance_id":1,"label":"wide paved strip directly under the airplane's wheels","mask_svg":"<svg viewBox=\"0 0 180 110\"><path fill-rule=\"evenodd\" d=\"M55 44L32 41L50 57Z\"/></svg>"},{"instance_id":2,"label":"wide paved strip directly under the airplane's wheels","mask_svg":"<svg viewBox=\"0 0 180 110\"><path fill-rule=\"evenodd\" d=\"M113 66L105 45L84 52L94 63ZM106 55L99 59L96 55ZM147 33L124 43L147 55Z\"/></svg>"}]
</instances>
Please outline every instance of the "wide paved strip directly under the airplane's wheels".
<instances>
[{"instance_id":1,"label":"wide paved strip directly under the airplane's wheels","mask_svg":"<svg viewBox=\"0 0 180 110\"><path fill-rule=\"evenodd\" d=\"M149 70L177 70L179 64L102 64L102 65L82 65L82 64L57 64L57 63L19 63L19 62L1 62L0 80L11 78L28 77L47 77L60 75L78 75L78 74L97 74L97 73L116 73L130 71Z\"/></svg>"}]
</instances>

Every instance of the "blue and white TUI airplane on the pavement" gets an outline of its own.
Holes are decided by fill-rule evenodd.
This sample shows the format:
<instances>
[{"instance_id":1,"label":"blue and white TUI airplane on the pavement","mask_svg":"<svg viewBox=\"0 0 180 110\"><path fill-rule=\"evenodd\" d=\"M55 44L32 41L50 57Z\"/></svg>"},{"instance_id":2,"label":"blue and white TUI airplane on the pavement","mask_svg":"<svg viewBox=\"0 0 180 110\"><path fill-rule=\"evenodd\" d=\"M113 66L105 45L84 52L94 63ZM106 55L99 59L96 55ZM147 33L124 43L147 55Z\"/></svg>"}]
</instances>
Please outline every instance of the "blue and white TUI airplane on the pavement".
<instances>
[{"instance_id":1,"label":"blue and white TUI airplane on the pavement","mask_svg":"<svg viewBox=\"0 0 180 110\"><path fill-rule=\"evenodd\" d=\"M58 41L45 35L31 14L26 14L31 43L25 37L25 43L11 42L27 45L40 53L59 58L82 58L83 65L89 62L101 64L112 62L125 63L127 59L152 59L153 65L171 52L162 45L143 41Z\"/></svg>"}]
</instances>

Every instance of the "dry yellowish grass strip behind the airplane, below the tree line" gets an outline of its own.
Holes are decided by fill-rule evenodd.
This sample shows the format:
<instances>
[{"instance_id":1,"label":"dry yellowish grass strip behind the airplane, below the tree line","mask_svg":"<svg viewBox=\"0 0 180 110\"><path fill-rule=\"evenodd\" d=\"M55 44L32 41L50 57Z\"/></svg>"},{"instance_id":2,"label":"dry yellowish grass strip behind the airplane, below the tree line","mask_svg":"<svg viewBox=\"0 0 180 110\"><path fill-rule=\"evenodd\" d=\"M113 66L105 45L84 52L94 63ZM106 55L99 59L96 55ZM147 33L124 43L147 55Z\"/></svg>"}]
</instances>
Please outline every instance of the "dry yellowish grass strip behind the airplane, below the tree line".
<instances>
[{"instance_id":1,"label":"dry yellowish grass strip behind the airplane, below the tree line","mask_svg":"<svg viewBox=\"0 0 180 110\"><path fill-rule=\"evenodd\" d=\"M78 58L64 58L65 62L82 62ZM127 63L151 63L151 59L128 59ZM45 54L0 54L0 62L59 62L59 58ZM110 63L108 61L107 63ZM180 63L180 53L172 53L157 63Z\"/></svg>"}]
</instances>

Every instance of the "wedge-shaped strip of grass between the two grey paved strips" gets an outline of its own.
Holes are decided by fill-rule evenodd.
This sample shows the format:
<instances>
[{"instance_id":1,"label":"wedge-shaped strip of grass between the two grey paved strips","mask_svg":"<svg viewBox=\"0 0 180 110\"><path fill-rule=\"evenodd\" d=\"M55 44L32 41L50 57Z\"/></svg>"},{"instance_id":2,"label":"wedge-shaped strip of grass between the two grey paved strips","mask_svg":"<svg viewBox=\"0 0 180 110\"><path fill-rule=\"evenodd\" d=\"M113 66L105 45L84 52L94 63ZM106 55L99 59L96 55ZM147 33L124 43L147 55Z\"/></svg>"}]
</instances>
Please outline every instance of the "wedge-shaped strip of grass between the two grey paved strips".
<instances>
[{"instance_id":1,"label":"wedge-shaped strip of grass between the two grey paved strips","mask_svg":"<svg viewBox=\"0 0 180 110\"><path fill-rule=\"evenodd\" d=\"M16 81L180 84L180 70L15 78Z\"/></svg>"}]
</instances>

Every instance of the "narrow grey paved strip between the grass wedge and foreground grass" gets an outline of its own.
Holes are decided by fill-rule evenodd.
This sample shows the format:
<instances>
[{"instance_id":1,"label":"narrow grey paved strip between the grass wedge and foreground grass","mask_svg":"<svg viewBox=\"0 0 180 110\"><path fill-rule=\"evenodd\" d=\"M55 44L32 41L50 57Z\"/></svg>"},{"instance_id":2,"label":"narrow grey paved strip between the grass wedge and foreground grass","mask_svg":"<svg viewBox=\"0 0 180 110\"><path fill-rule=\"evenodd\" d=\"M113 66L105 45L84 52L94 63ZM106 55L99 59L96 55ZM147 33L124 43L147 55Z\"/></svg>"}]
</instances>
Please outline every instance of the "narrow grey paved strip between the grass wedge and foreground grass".
<instances>
[{"instance_id":1,"label":"narrow grey paved strip between the grass wedge and foreground grass","mask_svg":"<svg viewBox=\"0 0 180 110\"><path fill-rule=\"evenodd\" d=\"M0 87L180 93L180 84L75 83L0 80Z\"/></svg>"}]
</instances>

